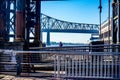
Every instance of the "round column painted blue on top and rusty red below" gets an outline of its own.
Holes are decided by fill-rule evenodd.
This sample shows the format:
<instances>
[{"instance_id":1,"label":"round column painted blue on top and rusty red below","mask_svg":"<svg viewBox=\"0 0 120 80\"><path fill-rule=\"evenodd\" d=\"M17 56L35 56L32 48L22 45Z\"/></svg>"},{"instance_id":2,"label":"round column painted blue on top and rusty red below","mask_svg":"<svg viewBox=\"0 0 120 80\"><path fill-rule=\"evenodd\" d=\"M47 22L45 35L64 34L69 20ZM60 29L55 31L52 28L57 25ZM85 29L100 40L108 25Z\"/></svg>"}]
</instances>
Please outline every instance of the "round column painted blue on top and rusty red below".
<instances>
[{"instance_id":1,"label":"round column painted blue on top and rusty red below","mask_svg":"<svg viewBox=\"0 0 120 80\"><path fill-rule=\"evenodd\" d=\"M25 36L25 0L16 0L16 39L21 42Z\"/></svg>"}]
</instances>

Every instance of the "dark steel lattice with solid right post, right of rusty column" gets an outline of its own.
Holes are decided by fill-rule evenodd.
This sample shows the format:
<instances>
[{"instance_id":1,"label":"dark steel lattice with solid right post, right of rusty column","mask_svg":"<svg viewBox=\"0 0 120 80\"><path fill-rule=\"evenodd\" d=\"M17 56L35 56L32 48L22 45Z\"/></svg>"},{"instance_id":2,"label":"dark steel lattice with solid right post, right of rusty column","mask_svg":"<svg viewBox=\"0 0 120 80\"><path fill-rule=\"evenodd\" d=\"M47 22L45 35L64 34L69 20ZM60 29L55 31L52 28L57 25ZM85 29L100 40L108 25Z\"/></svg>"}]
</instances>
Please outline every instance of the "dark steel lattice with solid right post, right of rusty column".
<instances>
[{"instance_id":1,"label":"dark steel lattice with solid right post, right of rusty column","mask_svg":"<svg viewBox=\"0 0 120 80\"><path fill-rule=\"evenodd\" d=\"M26 36L27 43L33 40L34 43L41 43L40 34L40 7L41 1L29 0L26 1Z\"/></svg>"}]
</instances>

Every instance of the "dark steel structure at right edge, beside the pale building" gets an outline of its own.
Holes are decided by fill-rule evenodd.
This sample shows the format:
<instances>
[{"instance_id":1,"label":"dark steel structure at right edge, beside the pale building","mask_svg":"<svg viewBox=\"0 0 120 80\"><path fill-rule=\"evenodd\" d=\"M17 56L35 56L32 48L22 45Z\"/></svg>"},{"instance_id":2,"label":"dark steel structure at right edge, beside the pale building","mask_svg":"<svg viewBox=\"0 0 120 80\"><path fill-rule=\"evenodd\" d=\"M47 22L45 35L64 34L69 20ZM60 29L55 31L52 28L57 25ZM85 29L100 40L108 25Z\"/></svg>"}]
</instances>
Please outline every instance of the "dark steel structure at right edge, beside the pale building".
<instances>
[{"instance_id":1,"label":"dark steel structure at right edge, beside the pale building","mask_svg":"<svg viewBox=\"0 0 120 80\"><path fill-rule=\"evenodd\" d=\"M120 0L113 0L112 3L112 42L120 43Z\"/></svg>"}]
</instances>

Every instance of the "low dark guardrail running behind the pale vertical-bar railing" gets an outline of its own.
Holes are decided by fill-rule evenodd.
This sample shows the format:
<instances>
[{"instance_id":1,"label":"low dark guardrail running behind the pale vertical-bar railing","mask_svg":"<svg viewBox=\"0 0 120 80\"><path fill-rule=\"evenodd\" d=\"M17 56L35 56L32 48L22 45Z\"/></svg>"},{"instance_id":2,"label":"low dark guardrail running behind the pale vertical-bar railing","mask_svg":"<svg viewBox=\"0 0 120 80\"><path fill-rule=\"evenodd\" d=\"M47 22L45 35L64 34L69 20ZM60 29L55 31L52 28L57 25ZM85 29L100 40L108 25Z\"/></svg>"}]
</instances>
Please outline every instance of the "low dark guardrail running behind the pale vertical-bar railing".
<instances>
[{"instance_id":1,"label":"low dark guardrail running behind the pale vertical-bar railing","mask_svg":"<svg viewBox=\"0 0 120 80\"><path fill-rule=\"evenodd\" d=\"M37 51L80 51L80 52L120 52L120 45L88 45L88 46L63 46L63 47L30 47L29 50Z\"/></svg>"}]
</instances>

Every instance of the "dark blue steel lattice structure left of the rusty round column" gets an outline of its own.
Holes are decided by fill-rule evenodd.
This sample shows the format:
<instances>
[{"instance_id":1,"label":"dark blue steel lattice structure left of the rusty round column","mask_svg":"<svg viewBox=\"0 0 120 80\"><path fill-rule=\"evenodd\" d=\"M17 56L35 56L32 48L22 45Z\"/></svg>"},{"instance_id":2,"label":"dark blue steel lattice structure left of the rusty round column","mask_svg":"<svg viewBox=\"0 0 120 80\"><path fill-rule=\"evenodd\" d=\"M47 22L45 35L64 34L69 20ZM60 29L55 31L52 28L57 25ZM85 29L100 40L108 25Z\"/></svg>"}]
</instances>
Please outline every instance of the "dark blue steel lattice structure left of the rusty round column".
<instances>
[{"instance_id":1,"label":"dark blue steel lattice structure left of the rusty round column","mask_svg":"<svg viewBox=\"0 0 120 80\"><path fill-rule=\"evenodd\" d=\"M9 41L15 38L15 6L16 0L1 0L0 2L0 38Z\"/></svg>"}]
</instances>

